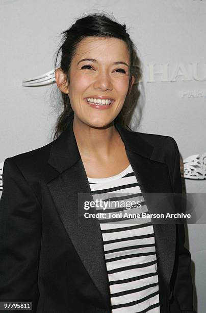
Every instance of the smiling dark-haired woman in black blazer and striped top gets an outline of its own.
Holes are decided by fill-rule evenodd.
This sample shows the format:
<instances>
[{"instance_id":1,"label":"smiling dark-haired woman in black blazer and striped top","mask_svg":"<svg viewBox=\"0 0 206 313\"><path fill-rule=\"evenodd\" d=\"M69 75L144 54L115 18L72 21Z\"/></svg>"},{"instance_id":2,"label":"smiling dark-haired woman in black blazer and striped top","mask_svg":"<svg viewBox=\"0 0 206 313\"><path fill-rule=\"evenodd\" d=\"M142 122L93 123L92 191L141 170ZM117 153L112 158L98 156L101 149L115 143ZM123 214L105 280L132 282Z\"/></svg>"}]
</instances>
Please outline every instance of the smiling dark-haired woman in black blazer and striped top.
<instances>
[{"instance_id":1,"label":"smiling dark-haired woman in black blazer and striped top","mask_svg":"<svg viewBox=\"0 0 206 313\"><path fill-rule=\"evenodd\" d=\"M78 205L81 194L138 194L151 212L143 193L182 192L174 139L126 128L138 60L125 25L85 16L60 52L56 139L4 164L1 302L46 313L194 312L184 225L105 222Z\"/></svg>"}]
</instances>

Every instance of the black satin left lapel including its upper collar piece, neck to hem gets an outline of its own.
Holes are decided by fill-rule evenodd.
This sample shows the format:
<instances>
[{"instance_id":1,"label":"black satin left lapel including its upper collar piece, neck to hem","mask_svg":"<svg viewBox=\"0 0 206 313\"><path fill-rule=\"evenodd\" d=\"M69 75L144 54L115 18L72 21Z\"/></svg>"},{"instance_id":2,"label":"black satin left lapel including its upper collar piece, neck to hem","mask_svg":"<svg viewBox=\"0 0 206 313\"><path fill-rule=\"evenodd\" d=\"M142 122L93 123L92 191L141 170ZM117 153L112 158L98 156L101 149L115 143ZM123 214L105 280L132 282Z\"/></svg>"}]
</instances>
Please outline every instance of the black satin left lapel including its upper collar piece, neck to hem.
<instances>
[{"instance_id":1,"label":"black satin left lapel including its upper collar piece, neck to hem","mask_svg":"<svg viewBox=\"0 0 206 313\"><path fill-rule=\"evenodd\" d=\"M48 163L59 173L47 183L65 230L78 252L88 274L110 310L109 281L99 222L79 218L83 208L78 195L93 200L85 168L73 133L73 118L51 147ZM91 213L91 211L90 211Z\"/></svg>"}]
</instances>

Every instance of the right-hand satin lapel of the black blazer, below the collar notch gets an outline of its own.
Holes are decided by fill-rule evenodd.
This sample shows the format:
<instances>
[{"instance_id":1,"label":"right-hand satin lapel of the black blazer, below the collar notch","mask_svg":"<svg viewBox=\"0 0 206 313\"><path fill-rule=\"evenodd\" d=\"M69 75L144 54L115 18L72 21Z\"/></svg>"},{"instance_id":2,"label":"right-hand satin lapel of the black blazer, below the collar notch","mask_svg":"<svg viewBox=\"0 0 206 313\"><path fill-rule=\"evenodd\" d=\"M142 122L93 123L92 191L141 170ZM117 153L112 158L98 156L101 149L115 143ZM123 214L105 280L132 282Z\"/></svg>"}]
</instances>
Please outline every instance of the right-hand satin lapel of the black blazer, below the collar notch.
<instances>
[{"instance_id":1,"label":"right-hand satin lapel of the black blazer, below the collar notch","mask_svg":"<svg viewBox=\"0 0 206 313\"><path fill-rule=\"evenodd\" d=\"M161 208L166 208L164 213L174 213L174 209L163 194L171 193L167 166L163 163L145 159L141 155L127 151L127 157L136 175L142 195L148 208L148 212L159 213L158 197L162 196ZM161 201L160 201L161 202ZM158 210L155 211L154 207ZM156 241L156 254L158 270L164 283L168 286L174 264L176 231L174 224L157 223L157 220L151 218Z\"/></svg>"}]
</instances>

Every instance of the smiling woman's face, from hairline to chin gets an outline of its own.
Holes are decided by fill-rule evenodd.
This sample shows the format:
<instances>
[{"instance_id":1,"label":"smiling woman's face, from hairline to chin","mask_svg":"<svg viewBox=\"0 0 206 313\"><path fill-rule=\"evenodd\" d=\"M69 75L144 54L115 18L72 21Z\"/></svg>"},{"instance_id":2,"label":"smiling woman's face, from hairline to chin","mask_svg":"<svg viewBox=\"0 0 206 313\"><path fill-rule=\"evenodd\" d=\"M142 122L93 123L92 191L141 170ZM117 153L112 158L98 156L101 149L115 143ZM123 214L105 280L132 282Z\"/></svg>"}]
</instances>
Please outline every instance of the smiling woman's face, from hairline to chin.
<instances>
[{"instance_id":1,"label":"smiling woman's face, from hairline to chin","mask_svg":"<svg viewBox=\"0 0 206 313\"><path fill-rule=\"evenodd\" d=\"M123 40L83 39L72 58L70 83L66 90L74 118L90 127L110 124L119 114L128 92L129 65L130 58Z\"/></svg>"}]
</instances>

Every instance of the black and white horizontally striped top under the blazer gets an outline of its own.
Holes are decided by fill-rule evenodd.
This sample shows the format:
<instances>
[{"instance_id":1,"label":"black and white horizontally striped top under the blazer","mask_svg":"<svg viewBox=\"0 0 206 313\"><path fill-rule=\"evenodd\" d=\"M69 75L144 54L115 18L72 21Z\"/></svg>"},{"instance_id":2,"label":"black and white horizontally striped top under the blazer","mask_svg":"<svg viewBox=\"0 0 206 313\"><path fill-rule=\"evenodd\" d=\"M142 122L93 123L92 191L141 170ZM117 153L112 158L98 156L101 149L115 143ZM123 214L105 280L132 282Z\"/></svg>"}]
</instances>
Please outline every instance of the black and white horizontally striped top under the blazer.
<instances>
[{"instance_id":1,"label":"black and white horizontally striped top under the blazer","mask_svg":"<svg viewBox=\"0 0 206 313\"><path fill-rule=\"evenodd\" d=\"M134 171L129 165L121 173L107 178L88 177L93 199L124 202L138 199L141 206L109 206L99 217L104 242L113 313L160 313L155 235L151 219L123 218L118 214L147 212ZM109 215L115 213L115 216ZM120 216L120 218L117 218Z\"/></svg>"}]
</instances>

